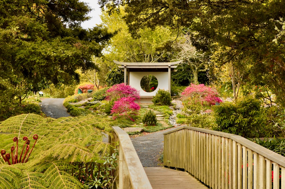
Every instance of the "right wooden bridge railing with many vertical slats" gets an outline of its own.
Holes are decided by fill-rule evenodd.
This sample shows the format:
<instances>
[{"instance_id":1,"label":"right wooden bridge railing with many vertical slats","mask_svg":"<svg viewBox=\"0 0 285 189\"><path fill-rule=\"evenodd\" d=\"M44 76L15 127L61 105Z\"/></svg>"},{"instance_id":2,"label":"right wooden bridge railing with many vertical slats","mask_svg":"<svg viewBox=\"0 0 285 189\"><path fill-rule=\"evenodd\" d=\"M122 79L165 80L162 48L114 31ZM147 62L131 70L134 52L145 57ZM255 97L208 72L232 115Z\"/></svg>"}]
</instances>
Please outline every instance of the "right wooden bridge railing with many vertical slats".
<instances>
[{"instance_id":1,"label":"right wooden bridge railing with many vertical slats","mask_svg":"<svg viewBox=\"0 0 285 189\"><path fill-rule=\"evenodd\" d=\"M234 134L187 126L167 132L164 165L214 189L285 189L285 157Z\"/></svg>"}]
</instances>

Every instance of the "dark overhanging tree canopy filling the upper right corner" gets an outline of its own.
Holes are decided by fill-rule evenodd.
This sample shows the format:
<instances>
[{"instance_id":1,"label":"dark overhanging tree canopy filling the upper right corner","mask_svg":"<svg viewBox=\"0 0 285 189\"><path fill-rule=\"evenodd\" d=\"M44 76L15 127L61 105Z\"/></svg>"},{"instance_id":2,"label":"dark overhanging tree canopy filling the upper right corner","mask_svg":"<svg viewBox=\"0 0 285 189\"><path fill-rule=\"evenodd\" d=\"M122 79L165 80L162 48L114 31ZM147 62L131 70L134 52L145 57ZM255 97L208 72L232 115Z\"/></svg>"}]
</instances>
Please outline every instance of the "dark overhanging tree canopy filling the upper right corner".
<instances>
[{"instance_id":1,"label":"dark overhanging tree canopy filling the upper right corner","mask_svg":"<svg viewBox=\"0 0 285 189\"><path fill-rule=\"evenodd\" d=\"M225 63L237 70L246 67L243 80L268 86L285 104L284 0L99 2L109 13L124 5L124 18L134 36L140 28L157 26L190 32L192 44L211 55L214 67Z\"/></svg>"}]
</instances>

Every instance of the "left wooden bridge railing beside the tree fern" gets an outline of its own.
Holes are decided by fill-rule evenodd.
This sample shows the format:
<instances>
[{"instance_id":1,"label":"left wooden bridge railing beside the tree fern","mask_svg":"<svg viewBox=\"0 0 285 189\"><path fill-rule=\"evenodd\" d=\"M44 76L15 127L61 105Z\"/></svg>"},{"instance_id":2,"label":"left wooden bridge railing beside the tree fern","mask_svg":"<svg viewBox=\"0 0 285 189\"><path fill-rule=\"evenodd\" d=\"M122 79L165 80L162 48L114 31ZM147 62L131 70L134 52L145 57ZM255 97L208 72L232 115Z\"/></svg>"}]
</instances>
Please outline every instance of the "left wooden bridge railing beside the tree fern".
<instances>
[{"instance_id":1,"label":"left wooden bridge railing beside the tree fern","mask_svg":"<svg viewBox=\"0 0 285 189\"><path fill-rule=\"evenodd\" d=\"M113 126L112 134L109 142L119 150L116 188L152 189L129 135L118 126Z\"/></svg>"}]
</instances>

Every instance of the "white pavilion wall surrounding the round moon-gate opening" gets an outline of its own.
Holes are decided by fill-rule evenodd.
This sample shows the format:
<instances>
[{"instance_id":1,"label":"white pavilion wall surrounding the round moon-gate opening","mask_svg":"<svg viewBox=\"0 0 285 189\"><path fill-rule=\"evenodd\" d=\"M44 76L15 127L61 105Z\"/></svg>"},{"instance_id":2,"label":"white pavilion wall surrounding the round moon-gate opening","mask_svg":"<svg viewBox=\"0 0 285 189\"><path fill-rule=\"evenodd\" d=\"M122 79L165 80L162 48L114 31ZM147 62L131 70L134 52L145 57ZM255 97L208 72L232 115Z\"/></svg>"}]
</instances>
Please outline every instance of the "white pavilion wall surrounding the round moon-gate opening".
<instances>
[{"instance_id":1,"label":"white pavilion wall surrounding the round moon-gate opening","mask_svg":"<svg viewBox=\"0 0 285 189\"><path fill-rule=\"evenodd\" d=\"M153 92L145 92L141 88L141 79L146 75L153 75L158 81L158 86ZM130 86L139 90L141 96L152 97L156 94L158 89L169 91L168 89L168 72L130 72Z\"/></svg>"}]
</instances>

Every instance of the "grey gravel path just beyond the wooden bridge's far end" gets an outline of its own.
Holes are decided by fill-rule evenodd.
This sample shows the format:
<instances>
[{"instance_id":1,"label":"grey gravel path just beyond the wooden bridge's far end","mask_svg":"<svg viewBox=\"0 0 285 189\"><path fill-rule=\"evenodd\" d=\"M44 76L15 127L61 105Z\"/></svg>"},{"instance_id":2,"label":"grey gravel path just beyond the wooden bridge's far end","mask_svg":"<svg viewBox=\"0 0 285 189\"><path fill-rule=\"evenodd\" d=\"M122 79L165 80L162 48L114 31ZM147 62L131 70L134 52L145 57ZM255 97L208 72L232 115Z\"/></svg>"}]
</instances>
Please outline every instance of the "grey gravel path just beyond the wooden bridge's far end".
<instances>
[{"instance_id":1,"label":"grey gravel path just beyond the wooden bridge's far end","mask_svg":"<svg viewBox=\"0 0 285 189\"><path fill-rule=\"evenodd\" d=\"M141 163L143 164L143 167L163 166L162 163L158 160L160 155L163 153L163 134L174 129L176 128L169 128L143 136L131 136L131 140L141 160Z\"/></svg>"}]
</instances>

